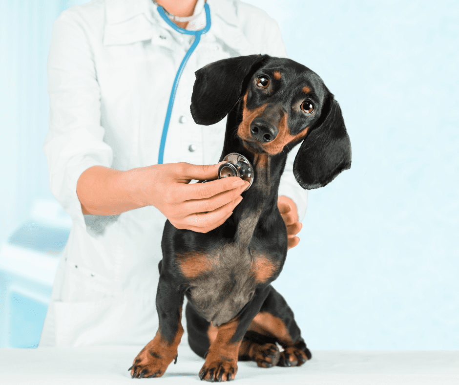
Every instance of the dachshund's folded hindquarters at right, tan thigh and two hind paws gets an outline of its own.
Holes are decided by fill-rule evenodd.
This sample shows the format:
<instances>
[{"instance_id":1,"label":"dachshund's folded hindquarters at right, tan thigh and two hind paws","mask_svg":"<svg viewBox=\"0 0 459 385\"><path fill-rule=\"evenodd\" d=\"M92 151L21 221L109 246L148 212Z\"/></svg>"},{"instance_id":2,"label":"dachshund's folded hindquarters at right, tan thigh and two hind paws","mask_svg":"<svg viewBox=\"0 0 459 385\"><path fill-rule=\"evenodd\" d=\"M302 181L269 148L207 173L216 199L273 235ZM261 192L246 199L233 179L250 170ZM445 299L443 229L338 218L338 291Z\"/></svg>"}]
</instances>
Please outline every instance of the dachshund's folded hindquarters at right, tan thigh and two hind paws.
<instances>
[{"instance_id":1,"label":"dachshund's folded hindquarters at right, tan thigh and two hind paws","mask_svg":"<svg viewBox=\"0 0 459 385\"><path fill-rule=\"evenodd\" d=\"M278 366L300 366L312 357L301 337L292 309L271 286L260 312L250 323L239 349L239 356L242 359L249 357L258 366L271 367L270 364L273 365L277 355L272 346L275 342L284 348L278 356ZM269 359L266 360L263 356Z\"/></svg>"}]
</instances>

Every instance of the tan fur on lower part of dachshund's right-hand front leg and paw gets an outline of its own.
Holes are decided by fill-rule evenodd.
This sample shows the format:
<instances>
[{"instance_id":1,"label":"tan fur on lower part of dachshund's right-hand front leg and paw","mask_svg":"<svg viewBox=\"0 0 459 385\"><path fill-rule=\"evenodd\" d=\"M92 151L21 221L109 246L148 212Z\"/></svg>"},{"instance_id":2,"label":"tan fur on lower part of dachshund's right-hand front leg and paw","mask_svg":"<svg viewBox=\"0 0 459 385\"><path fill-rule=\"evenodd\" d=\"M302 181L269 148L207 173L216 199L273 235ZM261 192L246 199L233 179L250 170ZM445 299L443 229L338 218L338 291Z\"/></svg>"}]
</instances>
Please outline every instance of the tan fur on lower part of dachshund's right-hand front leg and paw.
<instances>
[{"instance_id":1,"label":"tan fur on lower part of dachshund's right-hand front leg and paw","mask_svg":"<svg viewBox=\"0 0 459 385\"><path fill-rule=\"evenodd\" d=\"M203 368L214 368L219 363L224 363L225 374L222 376L222 381L227 381L227 374L231 373L231 379L234 380L234 376L237 373L237 358L239 352L239 346L241 345L242 339L237 342L231 342L231 338L236 333L239 320L234 317L232 320L224 323L220 327L214 326L210 323L207 335L209 337L209 351L206 356L206 362ZM201 373L200 372L200 373ZM218 373L214 373L214 376L218 376ZM206 374L204 380L209 380L210 374Z\"/></svg>"}]
</instances>

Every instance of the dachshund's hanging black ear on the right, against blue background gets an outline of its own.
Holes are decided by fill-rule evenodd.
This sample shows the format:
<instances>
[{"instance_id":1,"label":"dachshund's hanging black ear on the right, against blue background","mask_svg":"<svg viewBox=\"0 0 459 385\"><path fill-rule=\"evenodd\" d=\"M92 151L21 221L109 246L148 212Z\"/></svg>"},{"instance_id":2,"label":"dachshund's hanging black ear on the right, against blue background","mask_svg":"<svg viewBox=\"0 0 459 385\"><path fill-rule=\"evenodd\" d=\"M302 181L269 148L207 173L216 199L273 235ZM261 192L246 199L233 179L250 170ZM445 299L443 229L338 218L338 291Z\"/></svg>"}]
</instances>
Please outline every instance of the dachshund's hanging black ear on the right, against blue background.
<instances>
[{"instance_id":1,"label":"dachshund's hanging black ear on the right, against blue background","mask_svg":"<svg viewBox=\"0 0 459 385\"><path fill-rule=\"evenodd\" d=\"M306 135L293 162L293 174L303 189L323 187L351 168L351 141L341 108L332 94L326 100L318 122Z\"/></svg>"}]
</instances>

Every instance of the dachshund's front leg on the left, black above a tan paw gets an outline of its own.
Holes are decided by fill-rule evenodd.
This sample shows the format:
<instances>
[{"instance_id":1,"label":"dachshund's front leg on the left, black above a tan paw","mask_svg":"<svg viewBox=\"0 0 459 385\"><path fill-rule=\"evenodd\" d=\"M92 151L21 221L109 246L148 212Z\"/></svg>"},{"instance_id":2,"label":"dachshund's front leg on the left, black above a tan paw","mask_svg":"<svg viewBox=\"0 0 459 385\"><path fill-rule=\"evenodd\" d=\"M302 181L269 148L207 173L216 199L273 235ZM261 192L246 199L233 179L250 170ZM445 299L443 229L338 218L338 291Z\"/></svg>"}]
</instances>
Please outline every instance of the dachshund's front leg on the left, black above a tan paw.
<instances>
[{"instance_id":1,"label":"dachshund's front leg on the left, black above a tan paw","mask_svg":"<svg viewBox=\"0 0 459 385\"><path fill-rule=\"evenodd\" d=\"M167 366L177 360L177 346L183 335L183 297L183 292L160 276L156 292L159 328L155 338L146 344L129 368L132 378L161 377Z\"/></svg>"}]
</instances>

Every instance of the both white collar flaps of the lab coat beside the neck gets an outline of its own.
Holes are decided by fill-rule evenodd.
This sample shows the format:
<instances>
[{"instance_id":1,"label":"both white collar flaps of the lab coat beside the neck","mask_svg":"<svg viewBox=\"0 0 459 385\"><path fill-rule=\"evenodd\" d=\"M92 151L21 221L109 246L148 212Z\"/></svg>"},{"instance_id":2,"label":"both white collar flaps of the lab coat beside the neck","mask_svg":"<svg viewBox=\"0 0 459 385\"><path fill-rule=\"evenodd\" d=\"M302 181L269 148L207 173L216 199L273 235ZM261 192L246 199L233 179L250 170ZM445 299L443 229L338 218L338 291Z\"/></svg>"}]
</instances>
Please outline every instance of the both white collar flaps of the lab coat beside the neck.
<instances>
[{"instance_id":1,"label":"both white collar flaps of the lab coat beside the neck","mask_svg":"<svg viewBox=\"0 0 459 385\"><path fill-rule=\"evenodd\" d=\"M151 0L105 0L105 3L104 45L151 40L165 29L177 33L156 11L152 12ZM208 34L230 46L248 47L249 42L238 28L237 1L208 0L208 3L212 20Z\"/></svg>"}]
</instances>

